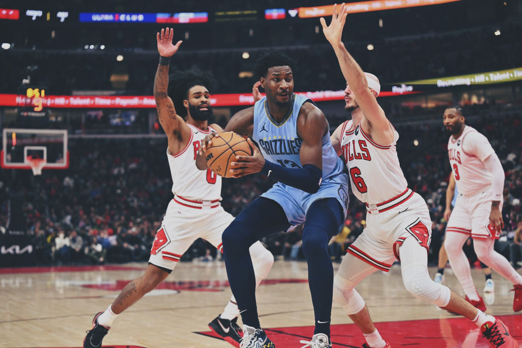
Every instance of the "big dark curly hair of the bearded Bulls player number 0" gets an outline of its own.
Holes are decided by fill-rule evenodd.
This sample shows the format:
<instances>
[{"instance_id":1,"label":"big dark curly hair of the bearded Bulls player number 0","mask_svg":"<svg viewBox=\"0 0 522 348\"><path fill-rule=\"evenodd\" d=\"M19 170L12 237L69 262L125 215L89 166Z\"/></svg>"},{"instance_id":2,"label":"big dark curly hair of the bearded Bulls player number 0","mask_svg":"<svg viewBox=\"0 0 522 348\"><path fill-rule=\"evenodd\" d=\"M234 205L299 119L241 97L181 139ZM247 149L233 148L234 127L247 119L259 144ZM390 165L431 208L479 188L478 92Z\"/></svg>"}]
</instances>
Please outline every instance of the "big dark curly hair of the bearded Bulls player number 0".
<instances>
[{"instance_id":1,"label":"big dark curly hair of the bearded Bulls player number 0","mask_svg":"<svg viewBox=\"0 0 522 348\"><path fill-rule=\"evenodd\" d=\"M205 86L209 92L213 91L218 85L210 71L203 71L192 68L185 71L175 71L169 75L169 87L167 94L174 103L176 113L182 117L187 116L187 109L183 101L188 99L188 90L194 86Z\"/></svg>"}]
</instances>

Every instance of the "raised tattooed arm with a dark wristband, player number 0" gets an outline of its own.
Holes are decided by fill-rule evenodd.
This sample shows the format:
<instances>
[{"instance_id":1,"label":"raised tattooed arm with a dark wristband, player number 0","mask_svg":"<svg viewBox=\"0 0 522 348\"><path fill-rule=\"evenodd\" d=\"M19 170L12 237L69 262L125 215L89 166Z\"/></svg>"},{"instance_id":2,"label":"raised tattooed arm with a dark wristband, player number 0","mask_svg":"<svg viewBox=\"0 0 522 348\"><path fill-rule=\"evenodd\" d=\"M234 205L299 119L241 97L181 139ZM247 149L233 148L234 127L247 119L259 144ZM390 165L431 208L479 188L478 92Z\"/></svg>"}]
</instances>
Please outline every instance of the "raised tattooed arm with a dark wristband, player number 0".
<instances>
[{"instance_id":1,"label":"raised tattooed arm with a dark wristband, player number 0","mask_svg":"<svg viewBox=\"0 0 522 348\"><path fill-rule=\"evenodd\" d=\"M161 33L156 34L160 63L154 79L154 99L156 100L158 118L161 127L167 134L171 154L182 150L191 135L190 128L185 124L183 118L176 114L174 103L167 95L170 57L177 52L181 45L181 41L178 41L175 45L172 44L173 35L174 30L169 28L161 29Z\"/></svg>"}]
</instances>

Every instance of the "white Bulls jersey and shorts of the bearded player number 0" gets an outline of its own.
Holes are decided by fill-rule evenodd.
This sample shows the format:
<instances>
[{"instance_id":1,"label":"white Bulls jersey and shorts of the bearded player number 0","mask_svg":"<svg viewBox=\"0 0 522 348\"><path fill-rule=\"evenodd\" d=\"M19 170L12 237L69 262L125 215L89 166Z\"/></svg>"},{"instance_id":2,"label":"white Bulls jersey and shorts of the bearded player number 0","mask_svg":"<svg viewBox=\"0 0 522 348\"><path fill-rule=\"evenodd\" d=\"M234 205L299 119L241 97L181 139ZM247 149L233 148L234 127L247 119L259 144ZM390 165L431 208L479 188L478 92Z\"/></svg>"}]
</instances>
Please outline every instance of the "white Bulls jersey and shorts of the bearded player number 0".
<instances>
[{"instance_id":1,"label":"white Bulls jersey and shorts of the bearded player number 0","mask_svg":"<svg viewBox=\"0 0 522 348\"><path fill-rule=\"evenodd\" d=\"M165 269L173 269L197 238L206 239L222 251L221 235L234 220L220 205L221 177L196 167L201 140L214 129L188 127L191 138L183 150L176 154L167 151L174 198L156 233L149 258L150 263Z\"/></svg>"}]
</instances>

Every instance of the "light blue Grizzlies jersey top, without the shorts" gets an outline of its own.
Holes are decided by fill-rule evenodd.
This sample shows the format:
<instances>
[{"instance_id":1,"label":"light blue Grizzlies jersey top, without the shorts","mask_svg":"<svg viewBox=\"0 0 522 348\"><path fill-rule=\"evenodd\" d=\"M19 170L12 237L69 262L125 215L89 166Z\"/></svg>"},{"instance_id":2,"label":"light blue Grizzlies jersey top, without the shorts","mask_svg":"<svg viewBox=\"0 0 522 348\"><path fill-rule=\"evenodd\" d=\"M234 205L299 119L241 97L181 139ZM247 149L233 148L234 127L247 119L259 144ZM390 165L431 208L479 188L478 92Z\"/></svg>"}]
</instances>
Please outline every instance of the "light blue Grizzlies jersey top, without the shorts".
<instances>
[{"instance_id":1,"label":"light blue Grizzlies jersey top, without the shorts","mask_svg":"<svg viewBox=\"0 0 522 348\"><path fill-rule=\"evenodd\" d=\"M301 106L311 99L292 94L292 107L279 123L270 114L266 97L254 105L254 130L252 138L259 144L263 157L284 167L302 167L299 153L302 140L296 124ZM314 104L315 105L315 104ZM323 181L342 173L342 161L337 157L328 132L323 136Z\"/></svg>"}]
</instances>

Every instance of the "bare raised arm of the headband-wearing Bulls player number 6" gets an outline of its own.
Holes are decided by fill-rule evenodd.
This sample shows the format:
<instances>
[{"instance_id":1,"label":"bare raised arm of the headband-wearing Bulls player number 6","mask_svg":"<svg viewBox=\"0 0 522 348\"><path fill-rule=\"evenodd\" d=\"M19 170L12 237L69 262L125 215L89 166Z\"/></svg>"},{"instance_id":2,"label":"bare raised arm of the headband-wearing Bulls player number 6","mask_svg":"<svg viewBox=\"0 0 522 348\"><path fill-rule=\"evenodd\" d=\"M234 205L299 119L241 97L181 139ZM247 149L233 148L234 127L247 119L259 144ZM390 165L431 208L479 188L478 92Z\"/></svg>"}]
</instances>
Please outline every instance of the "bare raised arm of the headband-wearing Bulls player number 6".
<instances>
[{"instance_id":1,"label":"bare raised arm of the headband-wearing Bulls player number 6","mask_svg":"<svg viewBox=\"0 0 522 348\"><path fill-rule=\"evenodd\" d=\"M351 54L348 53L345 45L341 41L346 16L345 4L339 7L334 5L334 14L332 15L330 25L326 25L324 18L320 19L321 25L323 26L323 33L334 48L342 75L345 77L348 86L355 95L355 100L364 115L362 120L364 131L369 133L376 142L389 144L393 142L394 131L383 109L375 99L377 93L370 90L364 72Z\"/></svg>"}]
</instances>

